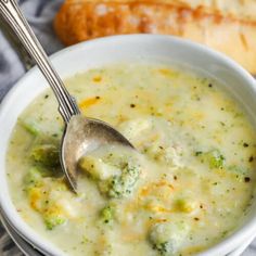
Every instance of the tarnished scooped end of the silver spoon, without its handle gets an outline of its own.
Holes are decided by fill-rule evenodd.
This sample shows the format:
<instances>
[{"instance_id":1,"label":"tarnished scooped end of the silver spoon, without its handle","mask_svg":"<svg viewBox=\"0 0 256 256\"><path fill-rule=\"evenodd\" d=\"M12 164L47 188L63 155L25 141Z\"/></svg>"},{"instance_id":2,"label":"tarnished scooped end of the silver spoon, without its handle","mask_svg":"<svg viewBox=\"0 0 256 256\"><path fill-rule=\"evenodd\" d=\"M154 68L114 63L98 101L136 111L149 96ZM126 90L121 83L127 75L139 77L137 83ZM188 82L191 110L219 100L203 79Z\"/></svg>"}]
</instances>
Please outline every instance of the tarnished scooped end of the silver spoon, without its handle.
<instances>
[{"instance_id":1,"label":"tarnished scooped end of the silver spoon, without its handle","mask_svg":"<svg viewBox=\"0 0 256 256\"><path fill-rule=\"evenodd\" d=\"M108 124L74 115L67 124L61 146L61 164L74 191L77 191L77 163L79 158L105 144L132 144Z\"/></svg>"}]
</instances>

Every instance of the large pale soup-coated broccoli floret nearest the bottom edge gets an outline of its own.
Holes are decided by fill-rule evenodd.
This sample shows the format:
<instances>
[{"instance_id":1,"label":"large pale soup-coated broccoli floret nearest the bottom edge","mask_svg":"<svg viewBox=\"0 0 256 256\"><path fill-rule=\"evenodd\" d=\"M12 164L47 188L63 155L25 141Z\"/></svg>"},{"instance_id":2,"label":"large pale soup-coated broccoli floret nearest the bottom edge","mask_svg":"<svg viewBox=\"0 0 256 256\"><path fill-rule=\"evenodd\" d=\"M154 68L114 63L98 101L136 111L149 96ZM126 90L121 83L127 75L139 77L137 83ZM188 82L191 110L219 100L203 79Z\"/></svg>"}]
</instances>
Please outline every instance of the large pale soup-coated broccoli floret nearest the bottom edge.
<instances>
[{"instance_id":1,"label":"large pale soup-coated broccoli floret nearest the bottom edge","mask_svg":"<svg viewBox=\"0 0 256 256\"><path fill-rule=\"evenodd\" d=\"M152 228L149 240L159 255L171 256L179 251L188 231L188 226L182 221L157 223Z\"/></svg>"}]
</instances>

